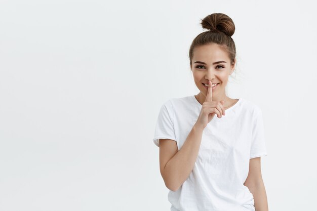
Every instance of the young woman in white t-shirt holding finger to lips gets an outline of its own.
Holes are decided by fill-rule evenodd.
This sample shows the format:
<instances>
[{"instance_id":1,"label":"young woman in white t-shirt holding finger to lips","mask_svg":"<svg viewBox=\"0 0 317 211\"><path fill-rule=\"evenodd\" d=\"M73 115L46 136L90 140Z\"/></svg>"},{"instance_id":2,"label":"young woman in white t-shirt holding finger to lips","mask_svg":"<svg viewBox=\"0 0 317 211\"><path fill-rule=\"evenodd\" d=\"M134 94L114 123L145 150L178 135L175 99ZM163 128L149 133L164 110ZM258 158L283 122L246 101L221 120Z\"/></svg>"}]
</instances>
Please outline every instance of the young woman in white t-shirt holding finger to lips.
<instances>
[{"instance_id":1,"label":"young woman in white t-shirt holding finger to lips","mask_svg":"<svg viewBox=\"0 0 317 211\"><path fill-rule=\"evenodd\" d=\"M225 92L236 63L235 26L221 13L201 24L209 31L197 35L189 50L200 93L166 101L153 139L171 210L268 210L260 166L267 155L261 109Z\"/></svg>"}]
</instances>

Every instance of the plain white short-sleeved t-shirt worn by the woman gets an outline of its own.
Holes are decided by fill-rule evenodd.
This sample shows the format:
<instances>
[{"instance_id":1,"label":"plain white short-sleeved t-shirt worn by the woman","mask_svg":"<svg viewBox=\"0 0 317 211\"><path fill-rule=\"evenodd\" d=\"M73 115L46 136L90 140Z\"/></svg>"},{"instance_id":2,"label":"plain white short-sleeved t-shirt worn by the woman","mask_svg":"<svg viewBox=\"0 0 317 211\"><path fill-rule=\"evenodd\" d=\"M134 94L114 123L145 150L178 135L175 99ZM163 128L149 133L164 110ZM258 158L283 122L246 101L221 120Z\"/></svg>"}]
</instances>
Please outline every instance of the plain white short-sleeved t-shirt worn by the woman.
<instances>
[{"instance_id":1,"label":"plain white short-sleeved t-shirt worn by the woman","mask_svg":"<svg viewBox=\"0 0 317 211\"><path fill-rule=\"evenodd\" d=\"M202 105L194 95L173 98L161 107L153 142L176 141L178 150L196 122ZM251 158L266 156L261 109L240 98L203 131L196 162L177 191L169 191L171 211L255 210L253 194L244 185Z\"/></svg>"}]
</instances>

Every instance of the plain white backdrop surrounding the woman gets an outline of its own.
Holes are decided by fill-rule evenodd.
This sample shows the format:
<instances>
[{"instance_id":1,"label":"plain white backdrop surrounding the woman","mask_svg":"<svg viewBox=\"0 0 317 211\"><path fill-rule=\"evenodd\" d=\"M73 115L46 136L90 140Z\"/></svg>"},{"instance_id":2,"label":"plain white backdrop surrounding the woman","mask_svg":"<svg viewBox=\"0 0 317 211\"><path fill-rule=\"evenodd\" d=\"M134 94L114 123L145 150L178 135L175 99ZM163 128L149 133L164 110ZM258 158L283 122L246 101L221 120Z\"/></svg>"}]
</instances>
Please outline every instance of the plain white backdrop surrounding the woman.
<instances>
[{"instance_id":1,"label":"plain white backdrop surrounding the woman","mask_svg":"<svg viewBox=\"0 0 317 211\"><path fill-rule=\"evenodd\" d=\"M311 1L0 3L0 210L170 210L152 142L162 104L199 93L200 19L235 24L230 98L263 112L269 210L317 196Z\"/></svg>"}]
</instances>

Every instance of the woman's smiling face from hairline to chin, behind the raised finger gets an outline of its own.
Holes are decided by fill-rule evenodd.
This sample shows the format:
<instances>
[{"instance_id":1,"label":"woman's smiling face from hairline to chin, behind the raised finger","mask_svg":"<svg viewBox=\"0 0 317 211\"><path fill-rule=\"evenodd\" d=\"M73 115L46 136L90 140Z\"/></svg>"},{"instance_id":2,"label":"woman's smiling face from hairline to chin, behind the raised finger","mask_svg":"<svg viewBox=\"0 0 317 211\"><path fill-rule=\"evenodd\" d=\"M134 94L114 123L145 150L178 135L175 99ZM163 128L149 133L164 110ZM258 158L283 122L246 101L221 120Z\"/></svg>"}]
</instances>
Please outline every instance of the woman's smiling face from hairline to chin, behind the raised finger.
<instances>
[{"instance_id":1,"label":"woman's smiling face from hairline to chin, behind the raised finger","mask_svg":"<svg viewBox=\"0 0 317 211\"><path fill-rule=\"evenodd\" d=\"M235 60L234 60L235 64ZM219 83L212 90L214 99L224 99L225 87L229 75L233 72L234 64L230 64L230 59L224 50L218 44L208 44L196 47L193 51L191 71L197 88L200 90L199 96L207 95L208 80L212 83Z\"/></svg>"}]
</instances>

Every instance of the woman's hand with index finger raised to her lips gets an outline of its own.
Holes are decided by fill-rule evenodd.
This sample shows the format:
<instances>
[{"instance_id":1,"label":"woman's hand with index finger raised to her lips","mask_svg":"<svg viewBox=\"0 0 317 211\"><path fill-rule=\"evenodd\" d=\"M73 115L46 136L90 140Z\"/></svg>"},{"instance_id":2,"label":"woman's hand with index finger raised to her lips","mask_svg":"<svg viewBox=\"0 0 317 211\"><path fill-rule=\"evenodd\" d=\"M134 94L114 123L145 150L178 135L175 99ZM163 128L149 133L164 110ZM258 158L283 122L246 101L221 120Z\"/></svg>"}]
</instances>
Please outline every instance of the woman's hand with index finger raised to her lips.
<instances>
[{"instance_id":1,"label":"woman's hand with index finger raised to her lips","mask_svg":"<svg viewBox=\"0 0 317 211\"><path fill-rule=\"evenodd\" d=\"M207 124L214 118L215 114L217 114L218 118L221 118L222 115L225 115L223 104L223 100L220 102L212 101L212 83L209 80L207 96L195 125L204 130Z\"/></svg>"}]
</instances>

